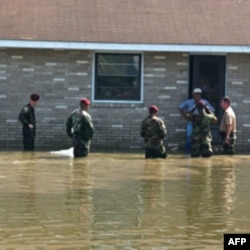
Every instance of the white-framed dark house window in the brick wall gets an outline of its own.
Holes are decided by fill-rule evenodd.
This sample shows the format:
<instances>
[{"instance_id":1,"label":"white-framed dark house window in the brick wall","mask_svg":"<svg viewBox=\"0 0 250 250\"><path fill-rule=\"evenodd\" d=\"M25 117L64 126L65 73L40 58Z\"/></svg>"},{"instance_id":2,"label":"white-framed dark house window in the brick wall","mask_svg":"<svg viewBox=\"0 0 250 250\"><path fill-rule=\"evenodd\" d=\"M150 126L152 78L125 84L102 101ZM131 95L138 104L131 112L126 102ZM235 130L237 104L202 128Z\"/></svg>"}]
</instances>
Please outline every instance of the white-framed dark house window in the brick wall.
<instances>
[{"instance_id":1,"label":"white-framed dark house window in the brick wall","mask_svg":"<svg viewBox=\"0 0 250 250\"><path fill-rule=\"evenodd\" d=\"M140 101L141 55L95 55L95 100Z\"/></svg>"}]
</instances>

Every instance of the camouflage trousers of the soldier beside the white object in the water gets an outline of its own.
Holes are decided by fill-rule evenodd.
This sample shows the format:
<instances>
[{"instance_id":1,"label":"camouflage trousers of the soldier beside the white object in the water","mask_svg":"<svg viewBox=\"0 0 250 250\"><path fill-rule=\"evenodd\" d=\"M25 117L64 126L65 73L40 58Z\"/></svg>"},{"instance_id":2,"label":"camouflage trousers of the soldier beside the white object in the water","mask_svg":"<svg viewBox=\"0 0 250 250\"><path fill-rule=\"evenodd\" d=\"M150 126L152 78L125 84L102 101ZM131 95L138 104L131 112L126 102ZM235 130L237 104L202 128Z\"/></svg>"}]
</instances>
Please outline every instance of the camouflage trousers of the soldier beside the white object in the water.
<instances>
[{"instance_id":1,"label":"camouflage trousers of the soldier beside the white object in the water","mask_svg":"<svg viewBox=\"0 0 250 250\"><path fill-rule=\"evenodd\" d=\"M82 135L73 136L74 157L86 157L89 153L90 141Z\"/></svg>"}]
</instances>

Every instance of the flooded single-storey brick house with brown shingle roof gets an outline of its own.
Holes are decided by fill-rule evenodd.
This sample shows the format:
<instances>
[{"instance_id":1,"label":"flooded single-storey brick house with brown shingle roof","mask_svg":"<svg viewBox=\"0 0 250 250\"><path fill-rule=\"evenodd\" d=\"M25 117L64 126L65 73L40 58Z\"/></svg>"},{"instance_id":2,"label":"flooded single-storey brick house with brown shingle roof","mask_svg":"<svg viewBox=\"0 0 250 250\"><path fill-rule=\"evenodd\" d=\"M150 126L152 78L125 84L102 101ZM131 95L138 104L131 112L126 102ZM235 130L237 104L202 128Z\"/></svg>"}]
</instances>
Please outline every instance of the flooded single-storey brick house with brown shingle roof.
<instances>
[{"instance_id":1,"label":"flooded single-storey brick house with brown shingle roof","mask_svg":"<svg viewBox=\"0 0 250 250\"><path fill-rule=\"evenodd\" d=\"M237 146L248 150L249 14L247 0L1 0L1 148L22 148L17 116L33 91L38 149L71 146L65 120L83 96L92 101L93 147L140 149L150 104L168 146L180 146L177 106L204 87L219 117L220 98L231 96Z\"/></svg>"}]
</instances>

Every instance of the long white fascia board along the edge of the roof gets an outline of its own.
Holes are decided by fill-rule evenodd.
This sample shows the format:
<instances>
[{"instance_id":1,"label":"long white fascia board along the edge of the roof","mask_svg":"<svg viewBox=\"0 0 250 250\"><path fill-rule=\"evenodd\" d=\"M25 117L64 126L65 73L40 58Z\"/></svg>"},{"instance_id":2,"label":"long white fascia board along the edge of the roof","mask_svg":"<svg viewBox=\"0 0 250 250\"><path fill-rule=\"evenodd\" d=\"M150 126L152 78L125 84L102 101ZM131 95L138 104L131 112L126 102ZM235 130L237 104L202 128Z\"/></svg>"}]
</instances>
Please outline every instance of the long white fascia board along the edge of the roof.
<instances>
[{"instance_id":1,"label":"long white fascia board along the edge of the roof","mask_svg":"<svg viewBox=\"0 0 250 250\"><path fill-rule=\"evenodd\" d=\"M250 45L125 44L27 40L0 40L0 48L186 53L250 53Z\"/></svg>"}]
</instances>

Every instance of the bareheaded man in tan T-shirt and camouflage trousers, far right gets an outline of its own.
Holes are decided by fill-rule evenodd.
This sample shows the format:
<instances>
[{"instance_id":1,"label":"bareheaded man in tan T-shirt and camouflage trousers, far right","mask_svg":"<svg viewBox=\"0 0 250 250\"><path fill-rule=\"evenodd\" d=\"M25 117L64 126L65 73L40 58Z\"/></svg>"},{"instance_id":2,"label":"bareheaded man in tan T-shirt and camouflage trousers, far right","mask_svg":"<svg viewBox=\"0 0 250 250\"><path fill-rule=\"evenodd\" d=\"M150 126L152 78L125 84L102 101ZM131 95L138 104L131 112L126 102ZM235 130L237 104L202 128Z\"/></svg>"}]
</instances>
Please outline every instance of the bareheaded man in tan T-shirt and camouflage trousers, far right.
<instances>
[{"instance_id":1,"label":"bareheaded man in tan T-shirt and camouflage trousers, far right","mask_svg":"<svg viewBox=\"0 0 250 250\"><path fill-rule=\"evenodd\" d=\"M223 153L232 155L235 153L236 116L231 107L231 99L228 96L222 98L220 106L224 110L224 114L220 123Z\"/></svg>"}]
</instances>

